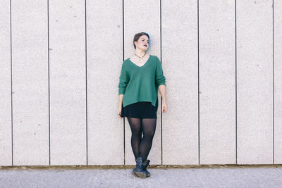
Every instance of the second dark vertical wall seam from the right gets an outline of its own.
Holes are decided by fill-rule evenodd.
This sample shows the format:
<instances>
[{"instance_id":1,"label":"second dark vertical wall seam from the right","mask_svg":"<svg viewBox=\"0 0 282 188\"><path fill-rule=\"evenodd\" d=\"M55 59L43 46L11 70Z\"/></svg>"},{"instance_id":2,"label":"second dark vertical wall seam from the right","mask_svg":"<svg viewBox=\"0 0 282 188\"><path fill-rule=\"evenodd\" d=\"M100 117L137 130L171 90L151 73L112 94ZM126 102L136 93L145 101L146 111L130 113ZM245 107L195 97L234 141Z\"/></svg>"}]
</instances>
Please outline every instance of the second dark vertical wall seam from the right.
<instances>
[{"instance_id":1,"label":"second dark vertical wall seam from the right","mask_svg":"<svg viewBox=\"0 0 282 188\"><path fill-rule=\"evenodd\" d=\"M235 163L237 164L237 1L235 0Z\"/></svg>"}]
</instances>

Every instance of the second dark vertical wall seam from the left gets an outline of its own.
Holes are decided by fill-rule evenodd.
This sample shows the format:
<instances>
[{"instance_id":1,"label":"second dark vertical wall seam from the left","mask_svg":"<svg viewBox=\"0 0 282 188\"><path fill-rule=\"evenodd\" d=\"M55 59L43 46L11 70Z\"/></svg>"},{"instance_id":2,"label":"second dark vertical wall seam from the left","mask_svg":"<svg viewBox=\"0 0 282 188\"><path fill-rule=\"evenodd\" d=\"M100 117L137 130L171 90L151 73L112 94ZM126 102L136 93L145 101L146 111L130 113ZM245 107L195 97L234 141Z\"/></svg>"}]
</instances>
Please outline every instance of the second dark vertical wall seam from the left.
<instances>
[{"instance_id":1,"label":"second dark vertical wall seam from the left","mask_svg":"<svg viewBox=\"0 0 282 188\"><path fill-rule=\"evenodd\" d=\"M48 126L49 126L49 165L51 165L51 125L50 125L50 38L49 38L49 0L47 0L47 40L48 40Z\"/></svg>"}]
</instances>

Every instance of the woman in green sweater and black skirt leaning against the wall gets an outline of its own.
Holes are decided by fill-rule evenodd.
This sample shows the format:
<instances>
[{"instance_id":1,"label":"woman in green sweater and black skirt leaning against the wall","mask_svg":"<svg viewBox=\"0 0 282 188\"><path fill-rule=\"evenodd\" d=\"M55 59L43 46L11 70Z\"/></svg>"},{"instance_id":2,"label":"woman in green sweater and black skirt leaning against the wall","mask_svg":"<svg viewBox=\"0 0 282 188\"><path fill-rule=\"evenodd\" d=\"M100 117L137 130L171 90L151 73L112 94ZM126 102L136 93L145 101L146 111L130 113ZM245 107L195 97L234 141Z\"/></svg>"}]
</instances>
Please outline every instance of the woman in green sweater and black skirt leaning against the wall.
<instances>
[{"instance_id":1,"label":"woman in green sweater and black skirt leaning against the wall","mask_svg":"<svg viewBox=\"0 0 282 188\"><path fill-rule=\"evenodd\" d=\"M128 119L136 161L132 174L141 178L150 176L147 156L157 124L158 89L163 99L161 111L167 111L166 78L159 58L146 54L150 43L146 32L135 35L135 54L123 61L118 84L118 117Z\"/></svg>"}]
</instances>

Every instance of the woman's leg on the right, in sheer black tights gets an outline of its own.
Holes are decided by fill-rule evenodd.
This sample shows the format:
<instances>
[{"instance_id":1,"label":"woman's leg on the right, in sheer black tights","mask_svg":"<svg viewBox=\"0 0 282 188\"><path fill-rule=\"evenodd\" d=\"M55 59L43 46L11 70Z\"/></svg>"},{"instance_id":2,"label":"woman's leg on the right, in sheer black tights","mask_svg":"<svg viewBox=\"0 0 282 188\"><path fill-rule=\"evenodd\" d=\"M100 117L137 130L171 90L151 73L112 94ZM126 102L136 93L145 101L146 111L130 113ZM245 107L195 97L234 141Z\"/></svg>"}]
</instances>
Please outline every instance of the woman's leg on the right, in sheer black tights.
<instances>
[{"instance_id":1,"label":"woman's leg on the right, in sheer black tights","mask_svg":"<svg viewBox=\"0 0 282 188\"><path fill-rule=\"evenodd\" d=\"M156 118L142 118L143 138L139 147L139 156L142 157L142 161L147 159L149 151L151 150L156 124Z\"/></svg>"}]
</instances>

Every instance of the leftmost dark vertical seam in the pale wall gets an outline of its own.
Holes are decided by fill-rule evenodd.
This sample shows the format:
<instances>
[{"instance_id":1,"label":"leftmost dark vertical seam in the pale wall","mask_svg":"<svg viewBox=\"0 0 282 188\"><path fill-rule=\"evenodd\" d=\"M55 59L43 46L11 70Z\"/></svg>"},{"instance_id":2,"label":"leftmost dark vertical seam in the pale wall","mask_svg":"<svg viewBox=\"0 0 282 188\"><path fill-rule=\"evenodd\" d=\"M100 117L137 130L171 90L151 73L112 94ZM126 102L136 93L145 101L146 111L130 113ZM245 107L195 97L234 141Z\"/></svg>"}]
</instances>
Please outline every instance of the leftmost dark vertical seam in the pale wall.
<instances>
[{"instance_id":1,"label":"leftmost dark vertical seam in the pale wall","mask_svg":"<svg viewBox=\"0 0 282 188\"><path fill-rule=\"evenodd\" d=\"M11 61L11 137L12 137L12 165L13 165L13 77L12 77L12 4L10 0L10 61Z\"/></svg>"}]
</instances>

